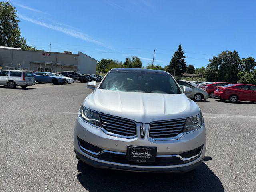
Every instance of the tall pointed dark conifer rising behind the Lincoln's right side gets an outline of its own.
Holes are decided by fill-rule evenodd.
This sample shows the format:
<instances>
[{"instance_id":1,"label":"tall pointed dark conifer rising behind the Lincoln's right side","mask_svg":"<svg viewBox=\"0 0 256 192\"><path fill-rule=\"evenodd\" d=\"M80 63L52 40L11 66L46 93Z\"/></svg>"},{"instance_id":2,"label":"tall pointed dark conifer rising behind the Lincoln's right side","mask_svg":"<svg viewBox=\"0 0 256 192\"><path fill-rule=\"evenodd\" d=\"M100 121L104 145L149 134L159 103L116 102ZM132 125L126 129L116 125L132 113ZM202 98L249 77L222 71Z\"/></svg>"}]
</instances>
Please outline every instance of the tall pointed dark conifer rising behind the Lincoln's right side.
<instances>
[{"instance_id":1,"label":"tall pointed dark conifer rising behind the Lincoln's right side","mask_svg":"<svg viewBox=\"0 0 256 192\"><path fill-rule=\"evenodd\" d=\"M184 51L182 50L182 46L180 44L178 47L178 51L174 52L170 64L166 67L166 71L170 74L175 73L175 76L182 75L187 68L185 58L186 56L184 56Z\"/></svg>"}]
</instances>

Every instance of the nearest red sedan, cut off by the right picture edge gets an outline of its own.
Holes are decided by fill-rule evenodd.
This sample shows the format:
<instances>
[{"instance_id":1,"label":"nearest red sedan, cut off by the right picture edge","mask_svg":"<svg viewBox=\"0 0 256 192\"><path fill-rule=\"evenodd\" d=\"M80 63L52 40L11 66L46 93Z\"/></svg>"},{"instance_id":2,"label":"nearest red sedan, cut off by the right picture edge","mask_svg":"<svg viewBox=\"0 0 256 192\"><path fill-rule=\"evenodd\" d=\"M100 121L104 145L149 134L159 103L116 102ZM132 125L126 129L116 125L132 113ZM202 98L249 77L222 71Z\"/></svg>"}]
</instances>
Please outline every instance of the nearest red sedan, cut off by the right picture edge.
<instances>
[{"instance_id":1,"label":"nearest red sedan, cut off by the right picture edge","mask_svg":"<svg viewBox=\"0 0 256 192\"><path fill-rule=\"evenodd\" d=\"M222 101L229 100L231 103L240 101L256 101L256 86L251 84L229 84L217 87L214 95Z\"/></svg>"}]
</instances>

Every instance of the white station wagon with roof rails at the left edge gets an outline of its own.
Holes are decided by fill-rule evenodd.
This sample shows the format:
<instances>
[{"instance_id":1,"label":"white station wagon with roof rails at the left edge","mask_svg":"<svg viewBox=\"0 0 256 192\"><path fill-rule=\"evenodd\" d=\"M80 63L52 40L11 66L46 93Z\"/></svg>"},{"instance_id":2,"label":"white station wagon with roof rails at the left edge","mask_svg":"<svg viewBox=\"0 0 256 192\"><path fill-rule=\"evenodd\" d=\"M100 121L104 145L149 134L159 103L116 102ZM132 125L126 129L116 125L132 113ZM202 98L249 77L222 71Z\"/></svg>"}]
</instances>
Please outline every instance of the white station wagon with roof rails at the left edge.
<instances>
[{"instance_id":1,"label":"white station wagon with roof rails at the left edge","mask_svg":"<svg viewBox=\"0 0 256 192\"><path fill-rule=\"evenodd\" d=\"M0 85L6 85L8 88L16 86L26 88L35 84L35 78L31 71L0 70Z\"/></svg>"}]
</instances>

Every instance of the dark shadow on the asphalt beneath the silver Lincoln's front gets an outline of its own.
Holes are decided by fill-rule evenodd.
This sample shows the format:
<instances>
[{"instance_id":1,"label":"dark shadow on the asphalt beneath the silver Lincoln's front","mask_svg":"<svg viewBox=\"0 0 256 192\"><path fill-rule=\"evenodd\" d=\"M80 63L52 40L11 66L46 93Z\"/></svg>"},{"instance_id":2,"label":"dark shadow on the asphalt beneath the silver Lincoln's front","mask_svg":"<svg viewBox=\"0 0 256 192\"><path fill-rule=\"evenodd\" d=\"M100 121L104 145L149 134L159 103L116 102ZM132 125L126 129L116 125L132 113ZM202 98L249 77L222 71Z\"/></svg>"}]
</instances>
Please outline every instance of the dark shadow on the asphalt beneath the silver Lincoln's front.
<instances>
[{"instance_id":1,"label":"dark shadow on the asphalt beneath the silver Lincoln's front","mask_svg":"<svg viewBox=\"0 0 256 192\"><path fill-rule=\"evenodd\" d=\"M211 157L205 159L208 160ZM90 192L224 192L220 179L204 162L196 170L184 174L96 169L80 161L77 170L80 172L77 175L78 181Z\"/></svg>"}]
</instances>

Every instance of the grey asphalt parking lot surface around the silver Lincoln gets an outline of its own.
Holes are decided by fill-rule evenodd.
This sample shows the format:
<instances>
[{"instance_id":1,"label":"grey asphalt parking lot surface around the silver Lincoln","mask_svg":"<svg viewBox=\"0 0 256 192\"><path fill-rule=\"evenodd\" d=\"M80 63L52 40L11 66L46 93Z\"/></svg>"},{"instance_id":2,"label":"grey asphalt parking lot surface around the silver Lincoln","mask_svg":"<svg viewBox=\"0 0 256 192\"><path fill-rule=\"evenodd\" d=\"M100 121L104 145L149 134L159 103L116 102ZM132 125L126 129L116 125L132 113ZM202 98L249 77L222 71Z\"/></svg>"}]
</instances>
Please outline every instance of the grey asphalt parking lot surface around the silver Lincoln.
<instances>
[{"instance_id":1,"label":"grey asphalt parking lot surface around the silver Lincoln","mask_svg":"<svg viewBox=\"0 0 256 192\"><path fill-rule=\"evenodd\" d=\"M73 149L84 83L0 86L0 191L255 191L256 102L198 103L207 128L204 163L186 174L98 170Z\"/></svg>"}]
</instances>

